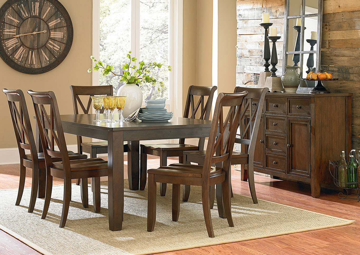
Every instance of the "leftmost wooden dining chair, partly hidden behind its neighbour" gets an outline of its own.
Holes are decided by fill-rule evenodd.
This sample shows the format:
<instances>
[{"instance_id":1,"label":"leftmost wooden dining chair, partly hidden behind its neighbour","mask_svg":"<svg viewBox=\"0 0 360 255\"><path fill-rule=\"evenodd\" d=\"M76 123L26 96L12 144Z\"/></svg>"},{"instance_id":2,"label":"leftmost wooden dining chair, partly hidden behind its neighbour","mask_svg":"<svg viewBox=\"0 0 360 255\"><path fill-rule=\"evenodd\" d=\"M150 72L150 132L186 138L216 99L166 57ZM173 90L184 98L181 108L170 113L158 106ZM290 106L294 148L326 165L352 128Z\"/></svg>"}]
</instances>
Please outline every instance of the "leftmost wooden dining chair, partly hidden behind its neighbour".
<instances>
[{"instance_id":1,"label":"leftmost wooden dining chair, partly hidden behind its neighbour","mask_svg":"<svg viewBox=\"0 0 360 255\"><path fill-rule=\"evenodd\" d=\"M19 205L22 198L25 185L26 168L31 168L32 183L28 212L32 213L35 207L37 189L39 187L39 171L40 169L45 169L45 158L43 153L38 153L36 150L35 139L31 128L24 93L22 90L8 90L6 88L3 89L3 92L8 99L10 115L14 126L20 156L20 182L15 205ZM30 150L30 154L26 154L25 150ZM69 151L68 155L72 159L87 158L86 155L81 155L72 151ZM52 158L51 160L58 161L60 159Z\"/></svg>"}]
</instances>

